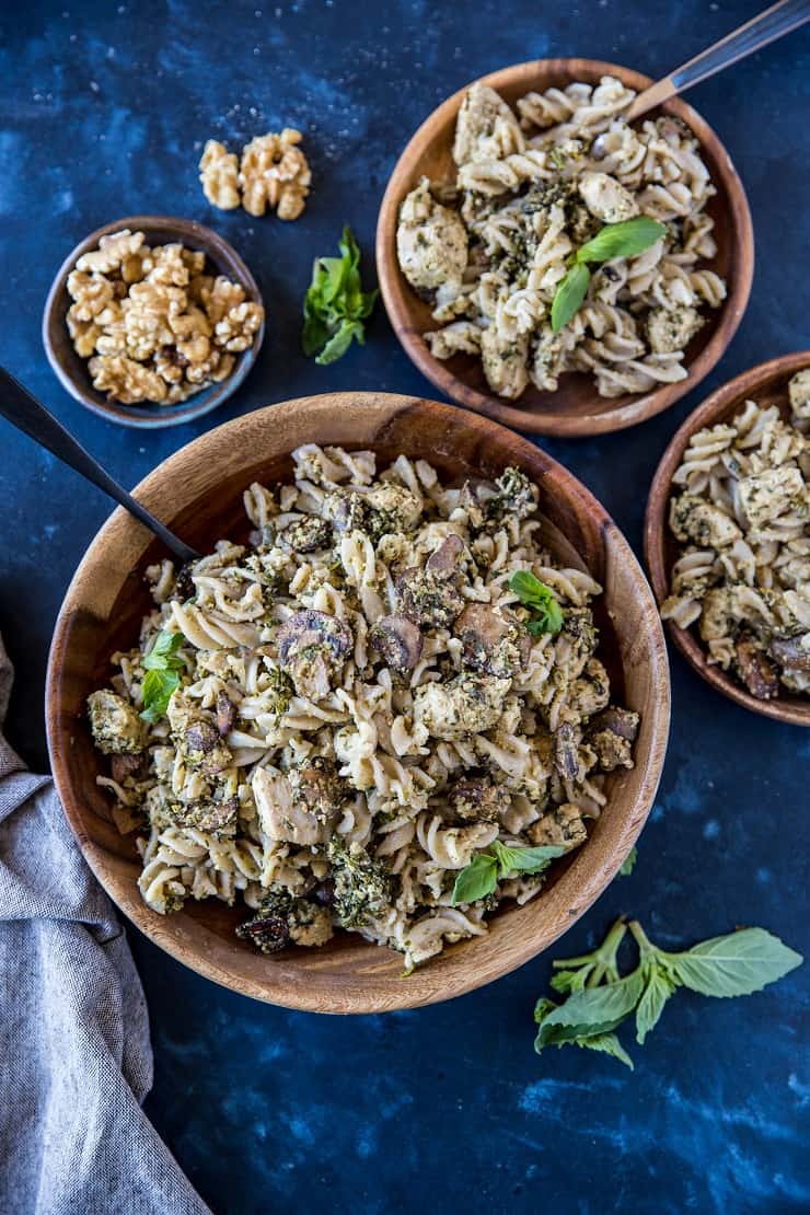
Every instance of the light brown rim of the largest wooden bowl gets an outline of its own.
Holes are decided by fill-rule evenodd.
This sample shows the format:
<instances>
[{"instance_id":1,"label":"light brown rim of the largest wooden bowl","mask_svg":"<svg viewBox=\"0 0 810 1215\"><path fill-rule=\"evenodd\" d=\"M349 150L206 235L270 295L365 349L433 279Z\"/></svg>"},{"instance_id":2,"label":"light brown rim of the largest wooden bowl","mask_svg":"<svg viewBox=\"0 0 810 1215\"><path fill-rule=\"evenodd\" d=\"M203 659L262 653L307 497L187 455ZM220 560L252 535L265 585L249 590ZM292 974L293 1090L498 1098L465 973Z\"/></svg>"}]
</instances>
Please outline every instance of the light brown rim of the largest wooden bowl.
<instances>
[{"instance_id":1,"label":"light brown rim of the largest wooden bowl","mask_svg":"<svg viewBox=\"0 0 810 1215\"><path fill-rule=\"evenodd\" d=\"M448 946L444 955L447 956L447 954L452 951L469 950L469 953L465 954L464 966L454 968L452 977L448 976L447 971L442 971L442 959L436 960L432 971L430 967L419 970L418 973L421 981L419 985L402 982L398 989L393 990L393 994L390 979L385 979L385 977L375 977L374 979L370 979L364 976L362 978L362 985L347 996L347 1002L351 1004L351 1007L344 1006L340 1008L329 1004L329 983L327 981L325 988L319 987L319 974L316 974L315 978L312 978L312 976L307 976L305 982L300 979L290 981L289 967L287 967L288 974L285 977L284 967L279 967L277 970L273 963L270 962L262 974L261 982L254 982L248 976L233 974L232 971L219 966L216 961L210 959L199 948L189 949L179 940L171 938L166 939L159 931L160 923L165 922L163 917L149 910L146 904L143 904L132 877L128 876L124 878L111 871L112 866L107 860L106 850L89 835L84 821L84 812L80 798L70 784L67 761L70 746L70 735L75 730L75 720L68 720L67 723L63 722L60 712L61 672L66 665L70 618L81 609L83 605L83 583L90 571L95 566L103 563L104 550L111 543L115 542L117 536L123 535L123 527L129 530L140 529L141 526L135 520L130 519L130 516L126 515L121 508L115 509L107 522L101 527L96 537L90 542L87 552L79 564L79 567L77 569L77 572L66 593L64 601L56 621L53 639L49 654L45 690L45 716L53 779L62 799L66 818L77 837L85 859L87 860L87 864L100 880L101 885L104 887L113 902L141 929L141 932L145 933L145 936L170 954L176 961L182 962L197 973L203 974L204 977L213 979L231 990L240 991L243 995L249 995L259 1000L290 1008L300 1008L304 1011L369 1013L412 1008L426 1004L434 1004L463 995L485 983L494 981L495 978L502 978L504 974L510 973L512 970L522 966L537 954L542 953L565 931L567 931L567 928L571 927L571 925L573 925L576 920L579 919L585 910L588 910L588 908L593 905L596 898L618 872L618 869L638 838L652 808L667 750L670 689L667 648L652 592L650 590L644 571L630 546L624 539L613 520L607 515L604 507L601 507L593 495L571 473L568 473L561 464L554 460L540 448L528 442L528 440L525 440L512 433L504 431L504 428L497 425L495 423L468 413L466 411L459 412L457 408L448 405L426 401L420 397L389 392L322 394L313 397L284 401L278 405L267 406L262 409L255 411L251 414L234 418L231 422L227 422L199 436L191 443L187 443L185 447L180 448L180 451L175 452L159 464L158 468L155 468L147 477L145 477L145 480L136 486L134 491L135 496L147 507L157 507L159 510L165 486L172 477L179 477L182 474L183 465L189 454L199 456L203 460L215 460L217 452L222 448L222 445L228 442L228 437L249 422L255 423L256 420L266 420L270 426L283 429L285 417L290 417L293 414L300 416L301 412L306 411L310 414L312 440L317 441L318 419L321 417L325 418L328 412L334 411L335 406L339 407L342 401L351 401L353 405L361 405L363 409L368 409L369 419L378 425L378 433L379 428L385 424L385 422L395 418L400 413L410 412L413 414L418 414L419 411L430 409L438 411L440 416L444 414L448 426L452 426L455 430L458 430L461 425L471 428L476 435L482 437L482 440L494 437L498 434L506 434L509 436L509 441L516 446L520 452L526 454L526 465L533 468L534 477L538 480L540 477L549 477L555 492L566 493L566 501L579 503L588 515L594 519L601 535L602 548L607 549L611 554L612 566L614 569L621 567L623 571L627 571L631 580L634 600L641 603L642 605L645 623L642 632L645 637L645 659L648 662L648 679L656 688L655 695L652 693L650 694L652 707L646 714L646 723L650 730L650 745L646 756L639 757L638 759L638 793L634 799L628 802L628 806L623 812L622 820L619 820L616 825L617 838L614 840L607 857L602 857L601 861L599 858L594 858L596 863L593 866L593 871L585 875L584 881L576 889L576 895L572 894L572 899L576 898L576 905L572 905L572 902L568 900L568 905L565 911L561 910L557 915L549 920L549 923L544 925L542 929L538 928L532 934L523 937L520 940L520 945L517 944L517 938L515 938L515 944L514 948L510 946L508 960L504 962L494 961L492 966L488 970L485 968L483 972L480 965L476 966L476 955L474 953L476 940L472 939L471 942L461 942L458 945ZM366 446L370 446L372 448L375 446L374 441L368 442L361 439L361 443L363 442L366 442ZM376 446L379 446L379 440ZM165 498L163 498L163 513L166 514ZM171 524L171 520L168 521ZM145 539L145 548L146 544L147 541ZM583 855L585 855L584 849ZM567 875L563 874L560 881L563 882L566 876ZM566 894L570 892L566 891ZM531 915L532 906L537 905L537 903L532 902L527 904L526 908L515 909L511 914L520 915L522 912L528 912ZM181 916L185 914L186 912L180 912L179 915ZM487 938L483 938L485 943L486 939ZM378 949L379 946L369 944L368 948ZM380 950L380 954L383 957L386 956L383 950Z\"/></svg>"}]
</instances>

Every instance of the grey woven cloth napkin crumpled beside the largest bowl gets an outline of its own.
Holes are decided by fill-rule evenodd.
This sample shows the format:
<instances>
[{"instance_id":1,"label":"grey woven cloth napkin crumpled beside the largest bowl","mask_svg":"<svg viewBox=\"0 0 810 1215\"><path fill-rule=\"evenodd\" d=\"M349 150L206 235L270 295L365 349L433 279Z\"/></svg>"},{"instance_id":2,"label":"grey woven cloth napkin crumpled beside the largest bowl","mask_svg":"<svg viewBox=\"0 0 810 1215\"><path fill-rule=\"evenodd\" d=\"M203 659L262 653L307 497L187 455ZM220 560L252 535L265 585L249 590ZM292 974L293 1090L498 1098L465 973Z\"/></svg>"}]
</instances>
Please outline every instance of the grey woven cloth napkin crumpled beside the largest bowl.
<instances>
[{"instance_id":1,"label":"grey woven cloth napkin crumpled beside the largest bowl","mask_svg":"<svg viewBox=\"0 0 810 1215\"><path fill-rule=\"evenodd\" d=\"M13 672L0 640L0 728ZM141 1102L141 981L49 776L0 735L0 1211L210 1215Z\"/></svg>"}]
</instances>

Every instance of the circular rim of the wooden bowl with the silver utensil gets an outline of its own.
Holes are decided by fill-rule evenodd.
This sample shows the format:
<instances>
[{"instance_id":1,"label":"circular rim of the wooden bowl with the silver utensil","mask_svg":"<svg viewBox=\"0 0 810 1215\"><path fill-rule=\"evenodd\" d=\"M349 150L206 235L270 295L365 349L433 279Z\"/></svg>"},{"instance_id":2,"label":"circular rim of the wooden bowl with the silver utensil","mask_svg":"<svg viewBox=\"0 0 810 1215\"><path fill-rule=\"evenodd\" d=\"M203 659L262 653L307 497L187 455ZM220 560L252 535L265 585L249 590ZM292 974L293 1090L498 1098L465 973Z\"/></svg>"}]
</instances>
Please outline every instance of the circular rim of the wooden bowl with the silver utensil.
<instances>
[{"instance_id":1,"label":"circular rim of the wooden bowl with the silver utensil","mask_svg":"<svg viewBox=\"0 0 810 1215\"><path fill-rule=\"evenodd\" d=\"M531 79L551 64L556 74L568 72L572 79L582 75L583 72L596 77L616 75L623 84L630 85L639 92L652 84L650 77L633 68L625 68L617 63L607 63L604 60L573 57L529 60L523 63L499 68L497 72L489 72L476 80L470 80L469 84L454 92L427 115L406 145L393 168L385 194L383 196L376 224L376 273L385 310L395 334L410 361L436 388L458 405L474 409L477 413L483 413L486 417L494 418L497 422L514 426L517 430L536 435L555 435L571 439L610 434L613 430L624 430L628 426L638 425L640 422L646 422L647 418L652 418L663 409L669 408L669 406L685 396L686 392L691 392L709 374L725 354L748 305L754 275L754 230L744 187L720 139L697 111L687 106L679 97L674 97L664 102L659 109L663 113L682 119L697 136L701 147L709 149L727 193L730 215L733 220L731 224L731 262L735 267L735 273L731 281L731 289L719 310L716 332L690 363L686 378L679 380L676 384L664 384L662 388L652 392L645 392L641 396L636 394L617 397L617 402L625 401L628 403L617 403L614 407L601 413L572 417L570 414L554 413L553 406L542 413L521 409L517 406L509 405L502 397L471 388L459 377L454 375L444 362L431 355L421 334L413 329L410 324L410 288L404 281L396 255L396 228L400 203L407 193L414 163L421 158L425 148L434 140L435 131L441 129L448 118L455 115L466 91L474 84L487 84L498 90L520 81L521 78L526 78L526 87L529 87ZM602 397L597 397L595 388L593 395L599 401L604 400Z\"/></svg>"}]
</instances>

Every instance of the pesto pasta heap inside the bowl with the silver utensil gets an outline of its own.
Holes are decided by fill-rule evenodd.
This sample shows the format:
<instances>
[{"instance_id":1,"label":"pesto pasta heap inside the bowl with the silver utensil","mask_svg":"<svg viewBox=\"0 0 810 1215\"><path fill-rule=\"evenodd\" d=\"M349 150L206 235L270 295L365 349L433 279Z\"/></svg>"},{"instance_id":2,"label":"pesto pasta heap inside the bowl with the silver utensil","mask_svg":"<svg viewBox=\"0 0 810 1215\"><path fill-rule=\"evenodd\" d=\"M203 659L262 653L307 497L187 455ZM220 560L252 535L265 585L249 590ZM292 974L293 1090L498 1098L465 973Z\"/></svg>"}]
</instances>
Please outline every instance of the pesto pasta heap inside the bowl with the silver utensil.
<instances>
[{"instance_id":1,"label":"pesto pasta heap inside the bowl with the silver utensil","mask_svg":"<svg viewBox=\"0 0 810 1215\"><path fill-rule=\"evenodd\" d=\"M566 372L605 397L686 377L685 350L726 295L699 146L673 118L630 126L635 97L612 77L528 94L515 113L475 84L457 120L455 180L423 177L403 200L400 266L429 300L436 358L474 355L499 396L556 391ZM605 225L648 216L665 234L594 267L583 305L555 330L570 259Z\"/></svg>"}]
</instances>

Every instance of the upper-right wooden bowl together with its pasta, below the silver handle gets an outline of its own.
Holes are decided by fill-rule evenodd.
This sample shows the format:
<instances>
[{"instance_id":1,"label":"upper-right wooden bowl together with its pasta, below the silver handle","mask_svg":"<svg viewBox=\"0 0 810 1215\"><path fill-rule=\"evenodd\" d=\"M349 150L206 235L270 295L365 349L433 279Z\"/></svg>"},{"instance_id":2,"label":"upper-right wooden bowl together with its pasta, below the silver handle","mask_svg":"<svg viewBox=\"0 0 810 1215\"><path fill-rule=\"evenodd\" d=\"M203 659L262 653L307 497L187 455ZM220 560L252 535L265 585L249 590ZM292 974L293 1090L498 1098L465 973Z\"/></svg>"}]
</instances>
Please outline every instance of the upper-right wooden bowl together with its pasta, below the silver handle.
<instances>
[{"instance_id":1,"label":"upper-right wooden bowl together with its pasta, below the silver handle","mask_svg":"<svg viewBox=\"0 0 810 1215\"><path fill-rule=\"evenodd\" d=\"M378 221L380 287L408 355L459 405L602 434L672 405L731 340L753 273L746 196L681 101L628 125L648 83L593 60L504 68L403 152ZM604 245L627 226L647 238Z\"/></svg>"}]
</instances>

